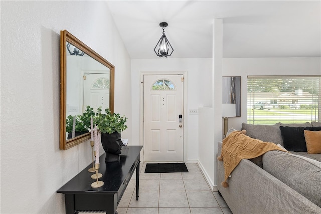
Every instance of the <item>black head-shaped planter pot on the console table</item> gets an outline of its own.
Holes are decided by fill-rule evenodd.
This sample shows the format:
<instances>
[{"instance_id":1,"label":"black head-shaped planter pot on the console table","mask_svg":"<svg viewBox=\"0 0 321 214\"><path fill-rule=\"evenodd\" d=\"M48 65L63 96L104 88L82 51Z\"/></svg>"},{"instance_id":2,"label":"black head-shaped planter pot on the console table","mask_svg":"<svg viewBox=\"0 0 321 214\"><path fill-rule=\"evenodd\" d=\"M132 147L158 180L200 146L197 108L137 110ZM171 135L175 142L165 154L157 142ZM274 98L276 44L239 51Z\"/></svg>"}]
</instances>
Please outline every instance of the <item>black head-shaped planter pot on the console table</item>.
<instances>
[{"instance_id":1,"label":"black head-shaped planter pot on the console table","mask_svg":"<svg viewBox=\"0 0 321 214\"><path fill-rule=\"evenodd\" d=\"M121 154L121 134L114 132L112 134L101 133L101 144L106 152L105 162L119 161Z\"/></svg>"}]
</instances>

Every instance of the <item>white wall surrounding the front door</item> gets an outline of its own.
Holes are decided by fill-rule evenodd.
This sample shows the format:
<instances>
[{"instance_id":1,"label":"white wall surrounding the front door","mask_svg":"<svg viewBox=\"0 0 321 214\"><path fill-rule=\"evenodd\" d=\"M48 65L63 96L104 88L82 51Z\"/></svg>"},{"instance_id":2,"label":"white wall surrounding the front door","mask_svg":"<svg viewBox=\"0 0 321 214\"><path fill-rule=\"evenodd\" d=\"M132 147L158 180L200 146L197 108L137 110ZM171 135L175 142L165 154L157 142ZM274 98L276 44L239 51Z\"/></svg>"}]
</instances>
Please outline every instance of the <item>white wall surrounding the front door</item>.
<instances>
[{"instance_id":1,"label":"white wall surrounding the front door","mask_svg":"<svg viewBox=\"0 0 321 214\"><path fill-rule=\"evenodd\" d=\"M212 105L212 59L132 59L132 141L136 145L143 145L140 138L139 127L139 96L140 94L140 72L183 72L187 76L184 80L187 84L187 109L197 109L199 106ZM187 120L187 161L198 159L198 115L185 115Z\"/></svg>"}]
</instances>

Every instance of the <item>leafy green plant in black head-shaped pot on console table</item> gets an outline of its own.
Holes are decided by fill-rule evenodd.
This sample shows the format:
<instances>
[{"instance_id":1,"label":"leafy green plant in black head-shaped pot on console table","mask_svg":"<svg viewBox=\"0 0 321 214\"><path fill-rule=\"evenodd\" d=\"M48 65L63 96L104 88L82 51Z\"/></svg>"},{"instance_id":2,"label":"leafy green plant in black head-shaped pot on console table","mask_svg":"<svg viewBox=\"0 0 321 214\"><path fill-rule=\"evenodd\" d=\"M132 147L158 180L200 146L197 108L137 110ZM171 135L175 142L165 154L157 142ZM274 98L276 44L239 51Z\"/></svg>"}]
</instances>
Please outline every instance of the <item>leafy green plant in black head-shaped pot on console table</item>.
<instances>
[{"instance_id":1,"label":"leafy green plant in black head-shaped pot on console table","mask_svg":"<svg viewBox=\"0 0 321 214\"><path fill-rule=\"evenodd\" d=\"M111 113L107 108L105 113L101 112L101 108L97 109L94 123L101 134L101 144L106 152L106 162L114 162L119 160L121 154L121 132L127 129L127 118L120 114Z\"/></svg>"}]
</instances>

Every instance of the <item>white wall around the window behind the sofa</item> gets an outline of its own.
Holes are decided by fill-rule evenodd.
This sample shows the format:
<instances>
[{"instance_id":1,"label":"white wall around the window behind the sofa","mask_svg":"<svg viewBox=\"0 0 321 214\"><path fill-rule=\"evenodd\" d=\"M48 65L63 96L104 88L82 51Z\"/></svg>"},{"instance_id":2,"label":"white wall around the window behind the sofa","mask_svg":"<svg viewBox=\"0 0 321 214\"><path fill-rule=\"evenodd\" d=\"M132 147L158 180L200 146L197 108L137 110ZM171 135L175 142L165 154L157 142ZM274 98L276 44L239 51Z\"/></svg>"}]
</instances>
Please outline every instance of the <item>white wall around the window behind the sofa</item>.
<instances>
[{"instance_id":1,"label":"white wall around the window behind the sofa","mask_svg":"<svg viewBox=\"0 0 321 214\"><path fill-rule=\"evenodd\" d=\"M246 122L247 76L321 75L320 57L223 58L223 76L241 76L241 117L229 118L229 128L241 129Z\"/></svg>"}]
</instances>

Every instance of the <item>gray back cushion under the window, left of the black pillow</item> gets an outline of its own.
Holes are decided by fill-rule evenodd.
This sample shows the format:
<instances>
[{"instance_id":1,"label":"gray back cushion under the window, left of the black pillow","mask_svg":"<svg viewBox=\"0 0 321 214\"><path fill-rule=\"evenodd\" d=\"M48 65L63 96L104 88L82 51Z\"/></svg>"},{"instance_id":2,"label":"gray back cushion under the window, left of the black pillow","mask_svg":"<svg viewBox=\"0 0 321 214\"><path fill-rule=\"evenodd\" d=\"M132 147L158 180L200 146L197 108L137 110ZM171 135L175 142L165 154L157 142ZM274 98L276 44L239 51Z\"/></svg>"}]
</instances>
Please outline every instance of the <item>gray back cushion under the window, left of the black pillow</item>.
<instances>
[{"instance_id":1,"label":"gray back cushion under the window, left of the black pillow","mask_svg":"<svg viewBox=\"0 0 321 214\"><path fill-rule=\"evenodd\" d=\"M264 142L281 144L283 146L283 140L282 140L279 126L280 126L279 123L274 125L242 123L242 129L246 130L247 136L251 138L259 139Z\"/></svg>"}]
</instances>

